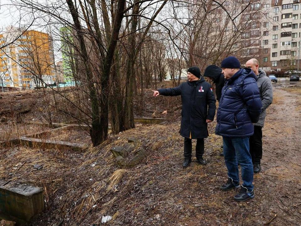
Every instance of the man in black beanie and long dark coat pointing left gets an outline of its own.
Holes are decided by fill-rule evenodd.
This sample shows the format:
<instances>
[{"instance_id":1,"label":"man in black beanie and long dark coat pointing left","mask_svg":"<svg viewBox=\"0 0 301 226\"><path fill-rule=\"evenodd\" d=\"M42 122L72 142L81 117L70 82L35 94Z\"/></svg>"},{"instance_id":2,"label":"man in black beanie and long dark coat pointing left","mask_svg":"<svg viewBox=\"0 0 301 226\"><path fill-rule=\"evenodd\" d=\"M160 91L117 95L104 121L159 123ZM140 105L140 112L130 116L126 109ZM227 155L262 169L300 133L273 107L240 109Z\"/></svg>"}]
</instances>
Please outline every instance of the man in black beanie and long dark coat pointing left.
<instances>
[{"instance_id":1,"label":"man in black beanie and long dark coat pointing left","mask_svg":"<svg viewBox=\"0 0 301 226\"><path fill-rule=\"evenodd\" d=\"M204 138L208 137L207 123L214 120L215 97L209 83L202 78L196 66L187 70L187 82L175 88L153 90L154 96L177 96L182 99L182 118L180 134L184 137L183 167L191 163L192 139L197 139L195 154L199 164L206 164L203 159Z\"/></svg>"}]
</instances>

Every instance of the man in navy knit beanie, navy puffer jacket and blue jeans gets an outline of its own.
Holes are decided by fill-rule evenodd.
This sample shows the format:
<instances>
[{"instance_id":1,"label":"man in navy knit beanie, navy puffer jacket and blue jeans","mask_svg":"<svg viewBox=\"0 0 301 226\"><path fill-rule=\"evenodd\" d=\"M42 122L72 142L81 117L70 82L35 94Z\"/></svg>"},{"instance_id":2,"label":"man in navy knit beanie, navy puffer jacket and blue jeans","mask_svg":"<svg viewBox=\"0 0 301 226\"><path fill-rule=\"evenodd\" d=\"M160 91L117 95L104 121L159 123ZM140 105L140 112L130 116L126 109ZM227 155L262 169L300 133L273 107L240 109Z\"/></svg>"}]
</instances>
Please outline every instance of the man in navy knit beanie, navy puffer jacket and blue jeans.
<instances>
[{"instance_id":1,"label":"man in navy knit beanie, navy puffer jacket and blue jeans","mask_svg":"<svg viewBox=\"0 0 301 226\"><path fill-rule=\"evenodd\" d=\"M228 181L220 189L229 191L240 187L234 199L246 201L255 197L249 137L254 133L253 123L258 121L262 106L257 77L250 68L240 68L240 62L234 56L225 58L221 68L225 85L219 100L215 133L223 137ZM238 163L243 181L241 186Z\"/></svg>"}]
</instances>

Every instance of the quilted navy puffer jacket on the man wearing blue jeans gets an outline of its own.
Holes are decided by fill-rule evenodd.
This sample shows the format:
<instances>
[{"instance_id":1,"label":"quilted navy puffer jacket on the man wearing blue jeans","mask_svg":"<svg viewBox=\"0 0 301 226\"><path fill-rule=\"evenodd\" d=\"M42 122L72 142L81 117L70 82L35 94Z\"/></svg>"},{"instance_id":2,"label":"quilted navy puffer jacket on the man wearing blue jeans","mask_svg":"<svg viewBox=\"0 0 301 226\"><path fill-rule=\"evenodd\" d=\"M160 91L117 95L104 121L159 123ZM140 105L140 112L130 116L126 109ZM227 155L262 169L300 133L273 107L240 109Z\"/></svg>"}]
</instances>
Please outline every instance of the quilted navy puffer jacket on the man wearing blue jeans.
<instances>
[{"instance_id":1,"label":"quilted navy puffer jacket on the man wearing blue jeans","mask_svg":"<svg viewBox=\"0 0 301 226\"><path fill-rule=\"evenodd\" d=\"M224 137L249 137L261 113L257 77L250 68L226 80L217 110L215 133Z\"/></svg>"}]
</instances>

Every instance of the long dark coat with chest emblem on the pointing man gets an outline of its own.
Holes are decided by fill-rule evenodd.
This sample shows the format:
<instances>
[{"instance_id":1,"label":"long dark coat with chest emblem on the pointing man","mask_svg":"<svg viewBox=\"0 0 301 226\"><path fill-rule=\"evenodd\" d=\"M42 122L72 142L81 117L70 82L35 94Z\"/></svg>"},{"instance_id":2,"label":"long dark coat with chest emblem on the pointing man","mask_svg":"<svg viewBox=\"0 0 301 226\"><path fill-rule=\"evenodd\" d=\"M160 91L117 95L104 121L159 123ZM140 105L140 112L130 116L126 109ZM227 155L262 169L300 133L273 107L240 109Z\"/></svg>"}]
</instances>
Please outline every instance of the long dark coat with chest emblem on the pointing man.
<instances>
[{"instance_id":1,"label":"long dark coat with chest emblem on the pointing man","mask_svg":"<svg viewBox=\"0 0 301 226\"><path fill-rule=\"evenodd\" d=\"M203 77L198 81L187 81L175 88L158 89L158 91L164 96L181 95L181 136L192 139L208 137L206 119L214 120L216 107L211 86Z\"/></svg>"}]
</instances>

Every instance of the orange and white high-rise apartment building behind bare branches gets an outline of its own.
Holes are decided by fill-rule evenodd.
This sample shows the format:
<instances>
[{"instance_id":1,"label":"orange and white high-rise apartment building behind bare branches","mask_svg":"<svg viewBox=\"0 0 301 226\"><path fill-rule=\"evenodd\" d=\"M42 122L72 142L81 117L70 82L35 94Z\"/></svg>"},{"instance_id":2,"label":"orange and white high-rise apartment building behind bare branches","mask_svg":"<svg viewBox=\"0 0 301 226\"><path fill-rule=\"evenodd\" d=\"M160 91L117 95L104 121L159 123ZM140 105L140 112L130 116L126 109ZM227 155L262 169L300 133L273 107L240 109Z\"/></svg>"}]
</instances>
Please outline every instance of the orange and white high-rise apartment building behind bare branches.
<instances>
[{"instance_id":1,"label":"orange and white high-rise apartment building behind bare branches","mask_svg":"<svg viewBox=\"0 0 301 226\"><path fill-rule=\"evenodd\" d=\"M0 51L0 77L3 86L35 88L55 81L52 42L49 35L28 30L20 37L20 30L7 28L0 34L1 44L12 44Z\"/></svg>"}]
</instances>

